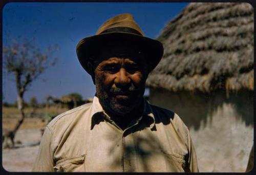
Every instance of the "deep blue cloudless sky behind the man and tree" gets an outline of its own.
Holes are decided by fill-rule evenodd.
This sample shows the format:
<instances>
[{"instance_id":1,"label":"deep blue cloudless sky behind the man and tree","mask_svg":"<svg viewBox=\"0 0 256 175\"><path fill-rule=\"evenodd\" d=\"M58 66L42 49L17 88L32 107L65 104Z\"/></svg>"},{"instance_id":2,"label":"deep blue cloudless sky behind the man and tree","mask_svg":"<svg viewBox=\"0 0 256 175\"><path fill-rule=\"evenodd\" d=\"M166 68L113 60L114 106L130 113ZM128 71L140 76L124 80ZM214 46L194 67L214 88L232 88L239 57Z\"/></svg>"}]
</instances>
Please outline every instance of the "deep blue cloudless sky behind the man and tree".
<instances>
[{"instance_id":1,"label":"deep blue cloudless sky behind the man and tree","mask_svg":"<svg viewBox=\"0 0 256 175\"><path fill-rule=\"evenodd\" d=\"M32 82L24 95L39 102L48 95L61 97L77 92L93 97L95 86L78 62L75 47L84 37L94 35L107 19L132 13L147 37L155 38L169 20L188 3L8 3L3 9L3 46L20 36L33 39L44 51L57 44L57 64ZM3 101L16 100L14 77L3 73Z\"/></svg>"}]
</instances>

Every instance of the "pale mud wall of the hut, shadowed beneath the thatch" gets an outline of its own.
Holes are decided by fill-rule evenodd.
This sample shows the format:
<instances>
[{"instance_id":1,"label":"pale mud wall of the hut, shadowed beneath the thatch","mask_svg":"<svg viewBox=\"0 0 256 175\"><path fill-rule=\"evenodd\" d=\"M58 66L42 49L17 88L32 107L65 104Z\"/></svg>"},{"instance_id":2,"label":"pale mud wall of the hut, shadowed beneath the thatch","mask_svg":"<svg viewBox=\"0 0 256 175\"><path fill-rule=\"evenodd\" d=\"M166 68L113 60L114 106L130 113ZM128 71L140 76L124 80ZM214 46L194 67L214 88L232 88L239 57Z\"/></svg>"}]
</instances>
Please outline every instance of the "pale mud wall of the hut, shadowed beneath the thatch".
<instances>
[{"instance_id":1,"label":"pale mud wall of the hut, shadowed beneath the thatch","mask_svg":"<svg viewBox=\"0 0 256 175\"><path fill-rule=\"evenodd\" d=\"M149 101L188 126L201 172L244 172L253 145L253 92L212 94L150 89Z\"/></svg>"}]
</instances>

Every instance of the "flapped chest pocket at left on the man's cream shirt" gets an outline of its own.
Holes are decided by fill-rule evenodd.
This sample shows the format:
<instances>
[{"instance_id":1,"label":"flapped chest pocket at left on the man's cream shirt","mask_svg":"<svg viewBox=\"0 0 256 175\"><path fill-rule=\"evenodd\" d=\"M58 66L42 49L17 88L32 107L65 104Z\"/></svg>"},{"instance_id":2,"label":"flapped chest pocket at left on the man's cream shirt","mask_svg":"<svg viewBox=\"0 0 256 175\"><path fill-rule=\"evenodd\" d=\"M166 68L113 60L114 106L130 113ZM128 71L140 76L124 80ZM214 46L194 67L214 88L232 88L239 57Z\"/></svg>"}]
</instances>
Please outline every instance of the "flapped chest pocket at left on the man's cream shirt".
<instances>
[{"instance_id":1,"label":"flapped chest pocket at left on the man's cream shirt","mask_svg":"<svg viewBox=\"0 0 256 175\"><path fill-rule=\"evenodd\" d=\"M85 155L75 158L64 158L56 162L55 172L84 172L86 171L84 159Z\"/></svg>"}]
</instances>

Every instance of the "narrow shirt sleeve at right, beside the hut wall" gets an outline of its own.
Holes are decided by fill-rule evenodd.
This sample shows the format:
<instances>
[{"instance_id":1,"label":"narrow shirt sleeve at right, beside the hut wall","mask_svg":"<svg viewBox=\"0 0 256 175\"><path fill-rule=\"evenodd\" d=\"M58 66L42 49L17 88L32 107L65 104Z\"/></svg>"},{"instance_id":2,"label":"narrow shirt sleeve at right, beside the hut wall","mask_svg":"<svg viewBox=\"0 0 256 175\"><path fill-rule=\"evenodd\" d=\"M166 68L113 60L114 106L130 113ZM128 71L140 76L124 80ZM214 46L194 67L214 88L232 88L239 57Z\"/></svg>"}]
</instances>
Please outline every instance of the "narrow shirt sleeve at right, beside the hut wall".
<instances>
[{"instance_id":1,"label":"narrow shirt sleeve at right, beside the hut wall","mask_svg":"<svg viewBox=\"0 0 256 175\"><path fill-rule=\"evenodd\" d=\"M193 142L191 140L191 137L188 132L188 165L190 172L199 172L198 166L197 166L197 156L196 156L196 150L193 145Z\"/></svg>"}]
</instances>

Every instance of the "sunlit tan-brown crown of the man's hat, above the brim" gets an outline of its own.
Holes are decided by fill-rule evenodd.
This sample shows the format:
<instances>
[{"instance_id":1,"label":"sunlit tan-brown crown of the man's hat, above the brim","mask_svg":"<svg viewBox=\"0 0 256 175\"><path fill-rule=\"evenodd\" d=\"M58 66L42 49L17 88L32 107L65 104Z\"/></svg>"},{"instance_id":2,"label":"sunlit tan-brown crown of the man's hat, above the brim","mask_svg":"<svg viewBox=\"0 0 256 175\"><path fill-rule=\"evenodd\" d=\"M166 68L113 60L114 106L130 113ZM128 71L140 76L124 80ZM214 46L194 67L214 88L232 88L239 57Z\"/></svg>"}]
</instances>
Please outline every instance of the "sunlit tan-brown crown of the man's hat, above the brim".
<instances>
[{"instance_id":1,"label":"sunlit tan-brown crown of the man's hat, above the brim","mask_svg":"<svg viewBox=\"0 0 256 175\"><path fill-rule=\"evenodd\" d=\"M105 21L105 23L99 27L98 31L96 32L96 35L105 33L105 32L110 33L112 32L111 29L115 29L115 31L113 32L119 31L124 33L130 33L129 29L132 31L135 30L136 33L138 32L137 34L144 36L144 33L142 32L140 27L136 24L133 18L133 15L130 13L123 13Z\"/></svg>"}]
</instances>

